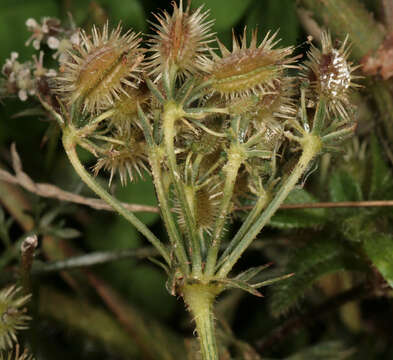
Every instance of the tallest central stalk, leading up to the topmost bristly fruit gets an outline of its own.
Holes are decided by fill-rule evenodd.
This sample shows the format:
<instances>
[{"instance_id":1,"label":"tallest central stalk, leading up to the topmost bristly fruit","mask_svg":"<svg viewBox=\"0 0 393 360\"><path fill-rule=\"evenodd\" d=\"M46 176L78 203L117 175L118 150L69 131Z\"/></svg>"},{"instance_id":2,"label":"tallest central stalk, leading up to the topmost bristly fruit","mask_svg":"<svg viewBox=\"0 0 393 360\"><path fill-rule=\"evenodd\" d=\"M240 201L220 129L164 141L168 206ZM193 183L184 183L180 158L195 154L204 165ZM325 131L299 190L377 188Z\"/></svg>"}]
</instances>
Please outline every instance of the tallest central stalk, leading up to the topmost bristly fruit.
<instances>
[{"instance_id":1,"label":"tallest central stalk, leading up to the topmost bristly fruit","mask_svg":"<svg viewBox=\"0 0 393 360\"><path fill-rule=\"evenodd\" d=\"M171 180L174 184L177 198L179 199L180 206L184 213L185 223L188 235L191 242L191 259L192 259L192 272L196 277L202 274L202 256L200 249L200 242L198 232L196 229L195 219L192 215L187 197L184 191L183 184L180 179L179 169L177 168L176 155L174 149L174 139L176 135L175 123L183 116L184 112L173 101L169 101L162 114L163 129L164 129L164 143L165 152L168 158L168 167Z\"/></svg>"}]
</instances>

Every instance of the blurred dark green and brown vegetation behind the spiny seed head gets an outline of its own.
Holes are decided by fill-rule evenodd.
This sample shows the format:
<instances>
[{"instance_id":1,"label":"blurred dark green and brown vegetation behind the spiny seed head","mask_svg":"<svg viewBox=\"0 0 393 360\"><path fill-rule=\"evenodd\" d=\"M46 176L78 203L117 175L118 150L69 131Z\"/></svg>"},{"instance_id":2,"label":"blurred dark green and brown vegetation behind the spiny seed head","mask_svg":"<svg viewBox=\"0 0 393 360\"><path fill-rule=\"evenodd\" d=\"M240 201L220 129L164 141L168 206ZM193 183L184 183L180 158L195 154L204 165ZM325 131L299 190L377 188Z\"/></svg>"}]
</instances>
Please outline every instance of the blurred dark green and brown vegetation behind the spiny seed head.
<instances>
[{"instance_id":1,"label":"blurred dark green and brown vegetation behind the spiny seed head","mask_svg":"<svg viewBox=\"0 0 393 360\"><path fill-rule=\"evenodd\" d=\"M379 1L367 0L363 3L378 15ZM297 53L304 53L308 49L305 43L307 33L299 21L295 0L192 1L194 7L201 4L211 9L211 18L216 19L214 29L227 46L231 43L232 29L242 32L246 25L248 31L258 27L260 36L264 36L269 30L274 32L279 29L281 45L296 45ZM0 64L5 62L11 51L19 53L20 61L31 58L32 47L24 45L30 36L25 26L27 18L39 21L44 16L52 16L68 21L70 13L75 23L86 29L92 24L104 24L109 19L113 25L121 21L124 28L132 27L149 33L148 22L154 21L152 13L158 9L170 11L170 2L1 0ZM49 57L47 61L50 63ZM391 163L389 164L388 156L383 150L383 143L386 144L389 139L380 139L378 136L371 138L372 126L367 124L367 120L378 124L378 115L372 107L370 96L366 91L363 92L361 102L364 102L364 108L360 107L363 134L360 134L357 143L351 145L352 157L348 155L343 159L340 155L340 160L333 160L334 175L326 175L330 174L330 167L321 164L316 172L321 175L312 175L311 179L312 192L316 197L307 197L301 193L300 202L316 201L316 198L325 201L367 200L363 190L369 189L369 185L365 183L372 176L368 173L372 168L370 163L374 169L373 179L379 173L385 177L391 175ZM368 103L370 107L364 105ZM30 108L34 108L34 103L30 100L25 103L17 98L2 100L0 166L10 169L9 148L15 142L24 171L34 181L53 183L65 190L92 196L68 164L56 127L34 111L30 115L21 114ZM24 116L15 116L16 114ZM377 131L373 133L378 134ZM363 141L367 143L364 146ZM81 155L89 165L92 159L83 153ZM377 166L378 169L375 170ZM374 185L380 189L385 184L384 181ZM389 186L387 188L391 191L391 184ZM148 176L146 181L131 183L126 187L115 182L112 191L124 201L156 204ZM374 192L374 195L375 199L392 198L388 190ZM0 183L0 203L3 209L0 216L1 230L8 234L12 243L29 232L40 235L36 255L38 263L83 253L148 246L126 221L114 214L42 199L4 182ZM325 259L323 255L333 254L335 249L343 246L341 238L358 236L357 233L353 234L355 230L348 224L358 221L357 231L361 233L362 226L375 212L302 211L297 218L292 218L293 213L281 212L274 220L276 226L265 232L265 240L258 242L248 252L239 267L268 261L274 261L277 268L284 267L290 258L297 265L295 270L306 273L310 283L319 278L319 275L326 275L325 273L334 272L335 275L325 276L318 287L307 292L306 301L300 301L303 293L298 291L296 282L288 285L293 287L290 291L294 294L294 299L290 298L288 304L285 303L286 298L280 298L279 295L273 298L273 291L269 289L265 292L266 298L262 300L238 292L225 296L218 305L217 314L222 343L227 344L239 359L258 359L258 352L264 355L264 359L393 359L393 347L390 345L393 340L391 297L384 293L384 296L360 301L364 297L364 291L363 288L357 288L358 279L350 272L341 271L347 267L346 258L334 258L335 266L327 265L326 271L324 270L325 264L330 264L332 259ZM382 221L385 221L384 229L388 232L386 229L391 229L391 218L385 214L375 216L386 219ZM165 237L158 214L143 213L140 218L155 233ZM13 219L13 222L8 223L7 219ZM228 231L238 227L239 221L234 219ZM345 221L348 226L340 228ZM307 264L307 254L304 255L301 249L294 255L294 249L310 239L326 239L325 244L316 246L314 250L307 250L321 252L317 260L319 263L315 267ZM352 241L355 242L356 240ZM386 243L386 251L389 251L392 248L389 247L389 241ZM14 278L14 270L18 266L16 249L15 246L12 251L8 251L5 259L5 247L3 248L0 286ZM304 268L302 264L305 264ZM308 265L310 266L307 267ZM389 266L391 265L388 264ZM169 295L165 281L164 272L143 256L127 257L88 270L34 276L35 300L29 309L33 321L30 330L23 334L21 340L29 344L37 359L197 359L186 355L191 354L195 347L188 314L182 302ZM359 283L362 284L360 281ZM352 297L348 289L353 290ZM344 292L348 298L335 297L340 292ZM356 294L359 294L359 298ZM329 303L330 298L338 303ZM278 299L281 303L272 305L272 299ZM340 301L345 305L340 306ZM293 308L294 302L298 305ZM289 313L282 311L289 307ZM280 316L272 316L272 312ZM319 317L319 313L325 316ZM269 339L271 343L266 341Z\"/></svg>"}]
</instances>

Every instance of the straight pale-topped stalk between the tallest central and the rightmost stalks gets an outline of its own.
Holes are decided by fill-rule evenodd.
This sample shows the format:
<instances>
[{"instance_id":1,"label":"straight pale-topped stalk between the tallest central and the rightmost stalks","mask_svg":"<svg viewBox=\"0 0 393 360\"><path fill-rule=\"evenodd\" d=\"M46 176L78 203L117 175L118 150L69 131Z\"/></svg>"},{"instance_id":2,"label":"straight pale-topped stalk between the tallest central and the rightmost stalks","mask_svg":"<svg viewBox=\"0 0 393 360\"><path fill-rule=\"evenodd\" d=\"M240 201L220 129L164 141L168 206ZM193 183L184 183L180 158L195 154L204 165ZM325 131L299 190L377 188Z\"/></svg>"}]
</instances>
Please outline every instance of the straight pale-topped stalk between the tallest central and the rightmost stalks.
<instances>
[{"instance_id":1,"label":"straight pale-topped stalk between the tallest central and the rightmost stalks","mask_svg":"<svg viewBox=\"0 0 393 360\"><path fill-rule=\"evenodd\" d=\"M210 276L214 274L216 268L217 256L221 245L222 230L224 228L225 220L228 215L229 207L231 205L231 199L233 195L233 189L236 183L237 173L244 159L244 154L242 150L243 149L240 146L232 145L228 154L228 162L226 163L224 168L226 177L223 197L221 201L220 212L213 230L212 244L209 248L209 253L206 261L205 273Z\"/></svg>"}]
</instances>

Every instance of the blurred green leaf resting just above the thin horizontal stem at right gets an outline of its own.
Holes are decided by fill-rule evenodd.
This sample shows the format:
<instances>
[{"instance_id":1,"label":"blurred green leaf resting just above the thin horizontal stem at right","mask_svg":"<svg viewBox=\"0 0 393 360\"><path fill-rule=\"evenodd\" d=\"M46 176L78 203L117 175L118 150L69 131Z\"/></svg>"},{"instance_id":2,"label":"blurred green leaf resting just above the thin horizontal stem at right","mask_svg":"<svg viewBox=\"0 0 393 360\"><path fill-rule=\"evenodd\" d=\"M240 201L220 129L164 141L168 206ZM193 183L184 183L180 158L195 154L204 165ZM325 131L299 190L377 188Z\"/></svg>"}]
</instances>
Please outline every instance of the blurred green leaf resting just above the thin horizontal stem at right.
<instances>
[{"instance_id":1,"label":"blurred green leaf resting just above the thin horizontal stem at right","mask_svg":"<svg viewBox=\"0 0 393 360\"><path fill-rule=\"evenodd\" d=\"M329 193L331 201L334 202L363 200L359 182L345 171L337 171L332 175Z\"/></svg>"}]
</instances>

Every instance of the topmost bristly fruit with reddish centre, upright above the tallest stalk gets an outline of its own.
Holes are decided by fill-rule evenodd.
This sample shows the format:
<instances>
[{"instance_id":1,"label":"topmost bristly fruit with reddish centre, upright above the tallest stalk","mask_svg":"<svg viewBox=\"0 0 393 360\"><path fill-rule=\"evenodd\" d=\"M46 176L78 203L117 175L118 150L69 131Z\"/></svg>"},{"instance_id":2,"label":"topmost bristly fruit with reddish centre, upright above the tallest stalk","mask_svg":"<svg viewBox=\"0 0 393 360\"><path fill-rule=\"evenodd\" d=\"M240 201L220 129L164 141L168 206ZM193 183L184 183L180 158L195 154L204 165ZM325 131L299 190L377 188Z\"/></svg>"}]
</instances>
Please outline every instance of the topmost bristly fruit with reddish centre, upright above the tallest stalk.
<instances>
[{"instance_id":1,"label":"topmost bristly fruit with reddish centre, upright above the tallest stalk","mask_svg":"<svg viewBox=\"0 0 393 360\"><path fill-rule=\"evenodd\" d=\"M153 24L155 34L150 39L146 68L156 81L173 66L180 76L203 72L208 45L213 41L209 11L203 12L201 6L192 12L190 4L184 10L182 1L179 5L172 2L172 6L172 15L166 11L156 15L158 24Z\"/></svg>"}]
</instances>

